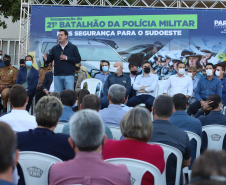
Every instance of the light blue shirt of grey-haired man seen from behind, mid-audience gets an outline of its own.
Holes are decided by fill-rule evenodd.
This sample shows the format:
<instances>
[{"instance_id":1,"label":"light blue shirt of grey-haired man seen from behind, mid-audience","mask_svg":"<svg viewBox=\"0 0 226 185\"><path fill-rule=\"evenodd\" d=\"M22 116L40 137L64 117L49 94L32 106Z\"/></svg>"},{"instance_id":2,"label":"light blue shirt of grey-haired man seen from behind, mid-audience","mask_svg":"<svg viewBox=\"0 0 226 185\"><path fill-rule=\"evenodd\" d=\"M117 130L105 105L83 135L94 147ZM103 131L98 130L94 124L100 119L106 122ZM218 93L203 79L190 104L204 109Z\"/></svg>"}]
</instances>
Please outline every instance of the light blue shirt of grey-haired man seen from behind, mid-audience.
<instances>
[{"instance_id":1,"label":"light blue shirt of grey-haired man seen from behind, mid-audience","mask_svg":"<svg viewBox=\"0 0 226 185\"><path fill-rule=\"evenodd\" d=\"M121 105L110 104L108 108L100 110L100 116L104 124L120 127L122 117L126 114Z\"/></svg>"}]
</instances>

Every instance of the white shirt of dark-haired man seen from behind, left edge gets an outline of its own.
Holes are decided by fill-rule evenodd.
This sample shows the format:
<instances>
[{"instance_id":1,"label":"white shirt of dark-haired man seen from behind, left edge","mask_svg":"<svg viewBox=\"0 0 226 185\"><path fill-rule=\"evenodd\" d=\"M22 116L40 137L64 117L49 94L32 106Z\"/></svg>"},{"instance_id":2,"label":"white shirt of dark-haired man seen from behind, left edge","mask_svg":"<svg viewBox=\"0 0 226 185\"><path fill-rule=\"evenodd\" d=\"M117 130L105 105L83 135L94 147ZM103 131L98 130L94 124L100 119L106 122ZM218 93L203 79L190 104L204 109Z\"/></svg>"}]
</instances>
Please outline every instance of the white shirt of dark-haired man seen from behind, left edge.
<instances>
[{"instance_id":1,"label":"white shirt of dark-haired man seen from behind, left edge","mask_svg":"<svg viewBox=\"0 0 226 185\"><path fill-rule=\"evenodd\" d=\"M26 110L15 110L0 117L0 121L7 123L15 132L28 131L37 127L35 116Z\"/></svg>"}]
</instances>

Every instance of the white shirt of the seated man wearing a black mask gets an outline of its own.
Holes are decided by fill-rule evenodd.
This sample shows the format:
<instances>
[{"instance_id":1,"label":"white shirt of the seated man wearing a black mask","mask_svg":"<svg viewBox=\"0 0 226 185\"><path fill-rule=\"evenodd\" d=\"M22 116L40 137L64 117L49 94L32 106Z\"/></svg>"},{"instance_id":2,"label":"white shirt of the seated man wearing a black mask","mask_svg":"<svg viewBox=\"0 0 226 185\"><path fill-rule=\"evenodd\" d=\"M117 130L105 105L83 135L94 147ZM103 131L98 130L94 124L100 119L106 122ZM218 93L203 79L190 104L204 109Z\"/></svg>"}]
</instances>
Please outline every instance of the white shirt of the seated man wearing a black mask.
<instances>
[{"instance_id":1,"label":"white shirt of the seated man wearing a black mask","mask_svg":"<svg viewBox=\"0 0 226 185\"><path fill-rule=\"evenodd\" d=\"M137 92L137 96L146 94L146 95L151 95L155 97L155 92L158 87L158 76L153 73L150 73L148 76L144 76L144 73L141 75L138 75L133 84L133 89L136 91L139 91L142 86L147 86L145 88L145 91L147 92L146 93Z\"/></svg>"}]
</instances>

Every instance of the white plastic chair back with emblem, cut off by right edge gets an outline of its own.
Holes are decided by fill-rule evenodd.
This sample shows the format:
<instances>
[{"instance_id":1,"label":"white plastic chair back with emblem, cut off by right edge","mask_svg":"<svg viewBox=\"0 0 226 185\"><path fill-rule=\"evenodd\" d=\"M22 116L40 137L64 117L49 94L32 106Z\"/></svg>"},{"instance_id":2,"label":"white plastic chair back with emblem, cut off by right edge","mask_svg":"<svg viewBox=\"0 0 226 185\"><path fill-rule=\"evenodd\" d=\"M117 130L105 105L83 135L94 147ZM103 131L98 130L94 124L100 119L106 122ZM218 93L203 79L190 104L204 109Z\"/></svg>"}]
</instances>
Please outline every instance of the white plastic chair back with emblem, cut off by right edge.
<instances>
[{"instance_id":1,"label":"white plastic chair back with emblem, cut off by right edge","mask_svg":"<svg viewBox=\"0 0 226 185\"><path fill-rule=\"evenodd\" d=\"M202 131L207 135L208 150L222 150L224 136L226 134L226 126L224 125L206 125L202 127Z\"/></svg>"}]
</instances>

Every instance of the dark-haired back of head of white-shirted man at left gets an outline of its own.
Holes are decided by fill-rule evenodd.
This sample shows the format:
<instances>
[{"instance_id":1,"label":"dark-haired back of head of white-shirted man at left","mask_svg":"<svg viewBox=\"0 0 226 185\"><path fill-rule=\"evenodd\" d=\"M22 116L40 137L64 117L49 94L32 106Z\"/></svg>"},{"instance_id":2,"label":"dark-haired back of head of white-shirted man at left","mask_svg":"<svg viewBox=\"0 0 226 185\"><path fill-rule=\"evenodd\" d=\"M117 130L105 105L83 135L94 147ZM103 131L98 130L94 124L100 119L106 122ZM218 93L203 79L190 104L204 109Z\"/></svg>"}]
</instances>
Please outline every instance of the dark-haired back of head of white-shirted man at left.
<instances>
[{"instance_id":1,"label":"dark-haired back of head of white-shirted man at left","mask_svg":"<svg viewBox=\"0 0 226 185\"><path fill-rule=\"evenodd\" d=\"M14 85L9 91L9 101L12 107L23 107L27 101L27 91L19 84Z\"/></svg>"}]
</instances>

